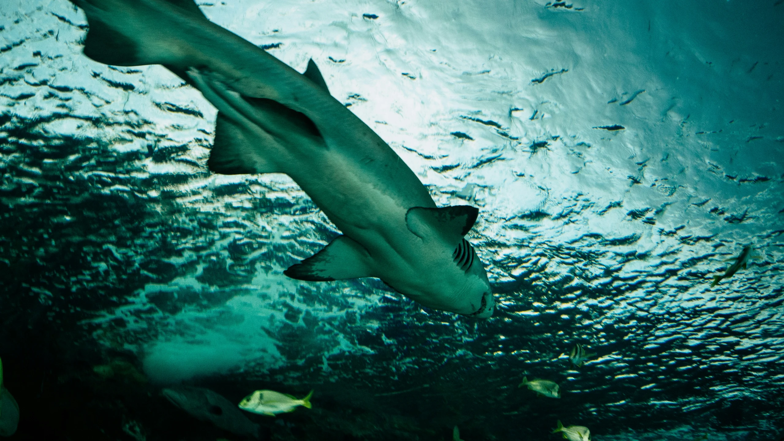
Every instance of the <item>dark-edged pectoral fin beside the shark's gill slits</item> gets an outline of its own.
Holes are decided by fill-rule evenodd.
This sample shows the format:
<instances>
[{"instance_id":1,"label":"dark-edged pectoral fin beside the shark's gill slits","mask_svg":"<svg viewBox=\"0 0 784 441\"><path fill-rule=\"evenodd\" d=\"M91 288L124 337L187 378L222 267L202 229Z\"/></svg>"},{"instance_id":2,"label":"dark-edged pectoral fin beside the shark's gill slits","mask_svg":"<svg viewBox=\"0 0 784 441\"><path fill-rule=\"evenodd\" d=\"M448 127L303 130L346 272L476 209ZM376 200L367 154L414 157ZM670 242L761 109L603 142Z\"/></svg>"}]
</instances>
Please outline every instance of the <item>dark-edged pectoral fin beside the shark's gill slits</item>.
<instances>
[{"instance_id":1,"label":"dark-edged pectoral fin beside the shark's gill slits","mask_svg":"<svg viewBox=\"0 0 784 441\"><path fill-rule=\"evenodd\" d=\"M470 205L444 208L409 208L405 213L408 230L422 239L441 238L448 244L457 245L477 221L479 209Z\"/></svg>"}]
</instances>

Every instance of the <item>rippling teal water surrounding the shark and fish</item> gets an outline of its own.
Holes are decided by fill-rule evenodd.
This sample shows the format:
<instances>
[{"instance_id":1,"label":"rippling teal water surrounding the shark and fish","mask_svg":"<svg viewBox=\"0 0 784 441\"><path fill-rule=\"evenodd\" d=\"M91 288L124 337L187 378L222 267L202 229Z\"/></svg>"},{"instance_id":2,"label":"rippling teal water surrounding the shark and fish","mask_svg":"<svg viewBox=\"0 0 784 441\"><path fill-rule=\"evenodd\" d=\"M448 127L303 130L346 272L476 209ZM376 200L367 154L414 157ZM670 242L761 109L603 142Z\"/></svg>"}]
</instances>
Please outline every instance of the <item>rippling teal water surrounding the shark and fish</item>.
<instances>
[{"instance_id":1,"label":"rippling teal water surrounding the shark and fish","mask_svg":"<svg viewBox=\"0 0 784 441\"><path fill-rule=\"evenodd\" d=\"M782 0L198 3L312 58L439 206L480 209L495 314L285 277L339 234L307 194L210 173L214 107L89 60L70 2L0 0L9 439L243 439L162 396L183 384L314 389L247 414L281 440L782 436ZM760 258L711 288L745 245Z\"/></svg>"}]
</instances>

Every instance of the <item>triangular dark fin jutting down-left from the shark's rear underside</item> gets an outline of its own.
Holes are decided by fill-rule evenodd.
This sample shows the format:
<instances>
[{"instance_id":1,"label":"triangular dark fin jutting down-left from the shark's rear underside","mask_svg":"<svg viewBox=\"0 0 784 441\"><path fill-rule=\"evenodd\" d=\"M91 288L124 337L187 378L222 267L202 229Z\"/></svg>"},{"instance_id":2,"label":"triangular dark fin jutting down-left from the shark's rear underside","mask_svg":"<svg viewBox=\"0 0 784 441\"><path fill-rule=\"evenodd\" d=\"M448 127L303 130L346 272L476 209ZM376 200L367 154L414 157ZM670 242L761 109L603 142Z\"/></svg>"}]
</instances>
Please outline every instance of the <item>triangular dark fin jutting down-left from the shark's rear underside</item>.
<instances>
[{"instance_id":1,"label":"triangular dark fin jutting down-left from the shark's rear underside","mask_svg":"<svg viewBox=\"0 0 784 441\"><path fill-rule=\"evenodd\" d=\"M260 137L256 136L256 144ZM245 173L281 172L275 164L259 154L259 146L241 126L220 112L215 125L215 141L209 154L207 166L210 172L222 175L242 175Z\"/></svg>"}]
</instances>

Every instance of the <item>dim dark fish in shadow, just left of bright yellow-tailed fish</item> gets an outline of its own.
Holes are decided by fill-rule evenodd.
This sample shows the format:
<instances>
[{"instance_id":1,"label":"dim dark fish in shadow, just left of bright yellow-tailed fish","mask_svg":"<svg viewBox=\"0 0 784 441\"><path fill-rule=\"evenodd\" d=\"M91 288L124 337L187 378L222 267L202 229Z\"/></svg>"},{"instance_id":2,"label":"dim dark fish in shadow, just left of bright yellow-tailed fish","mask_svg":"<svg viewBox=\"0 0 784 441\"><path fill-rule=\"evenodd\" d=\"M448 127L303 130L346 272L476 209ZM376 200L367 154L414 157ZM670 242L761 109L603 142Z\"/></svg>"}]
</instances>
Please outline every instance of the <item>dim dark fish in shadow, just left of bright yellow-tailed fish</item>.
<instances>
[{"instance_id":1,"label":"dim dark fish in shadow, just left of bright yellow-tailed fish","mask_svg":"<svg viewBox=\"0 0 784 441\"><path fill-rule=\"evenodd\" d=\"M217 392L192 386L176 386L162 390L163 396L192 417L239 436L259 439L259 425L251 422L237 405Z\"/></svg>"}]
</instances>

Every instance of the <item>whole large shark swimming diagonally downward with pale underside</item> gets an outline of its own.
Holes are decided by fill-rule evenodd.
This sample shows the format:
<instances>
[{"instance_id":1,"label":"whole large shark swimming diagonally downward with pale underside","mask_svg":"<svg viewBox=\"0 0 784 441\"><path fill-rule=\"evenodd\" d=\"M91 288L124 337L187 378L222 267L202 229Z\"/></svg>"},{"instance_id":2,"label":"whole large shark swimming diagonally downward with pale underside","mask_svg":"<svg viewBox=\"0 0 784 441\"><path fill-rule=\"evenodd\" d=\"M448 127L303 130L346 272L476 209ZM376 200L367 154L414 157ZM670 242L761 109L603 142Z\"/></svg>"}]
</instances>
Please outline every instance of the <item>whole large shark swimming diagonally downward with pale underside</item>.
<instances>
[{"instance_id":1,"label":"whole large shark swimming diagonally downward with pale underside","mask_svg":"<svg viewBox=\"0 0 784 441\"><path fill-rule=\"evenodd\" d=\"M218 110L212 172L289 175L343 232L285 271L299 280L379 277L434 309L487 318L485 268L463 239L477 208L436 208L410 168L305 74L211 23L191 0L71 0L85 10L85 55L162 64Z\"/></svg>"}]
</instances>

